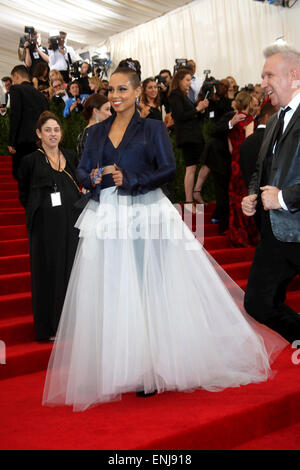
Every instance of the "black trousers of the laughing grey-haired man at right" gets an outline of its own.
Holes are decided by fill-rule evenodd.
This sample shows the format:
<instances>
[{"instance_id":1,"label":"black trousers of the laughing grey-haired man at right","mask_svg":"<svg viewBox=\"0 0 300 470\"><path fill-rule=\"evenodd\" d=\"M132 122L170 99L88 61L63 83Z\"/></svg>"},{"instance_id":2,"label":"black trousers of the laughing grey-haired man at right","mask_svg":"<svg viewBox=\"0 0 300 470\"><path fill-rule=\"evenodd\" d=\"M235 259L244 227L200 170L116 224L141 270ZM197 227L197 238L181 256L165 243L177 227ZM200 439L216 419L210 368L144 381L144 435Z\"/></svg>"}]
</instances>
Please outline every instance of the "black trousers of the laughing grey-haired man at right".
<instances>
[{"instance_id":1,"label":"black trousers of the laughing grey-haired man at right","mask_svg":"<svg viewBox=\"0 0 300 470\"><path fill-rule=\"evenodd\" d=\"M277 240L267 213L245 293L245 309L255 320L292 343L300 340L300 314L284 303L284 291L300 273L300 243Z\"/></svg>"}]
</instances>

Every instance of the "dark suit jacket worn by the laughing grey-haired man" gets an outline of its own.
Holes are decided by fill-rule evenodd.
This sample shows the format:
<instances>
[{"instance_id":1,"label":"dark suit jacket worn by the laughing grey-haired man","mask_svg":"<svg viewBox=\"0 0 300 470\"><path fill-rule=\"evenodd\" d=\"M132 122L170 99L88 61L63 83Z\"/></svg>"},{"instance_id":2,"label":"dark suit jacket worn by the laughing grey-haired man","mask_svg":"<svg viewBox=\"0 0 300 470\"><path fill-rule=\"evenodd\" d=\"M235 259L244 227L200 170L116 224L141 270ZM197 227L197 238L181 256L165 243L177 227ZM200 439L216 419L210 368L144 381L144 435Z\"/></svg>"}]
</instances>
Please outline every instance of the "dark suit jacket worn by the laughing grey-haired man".
<instances>
[{"instance_id":1,"label":"dark suit jacket worn by the laughing grey-haired man","mask_svg":"<svg viewBox=\"0 0 300 470\"><path fill-rule=\"evenodd\" d=\"M256 171L250 181L249 194L259 194L263 162L271 144L277 119L276 113L267 123ZM269 211L274 236L283 242L300 243L300 105L276 146L268 184L282 190L283 200L288 207L288 210Z\"/></svg>"}]
</instances>

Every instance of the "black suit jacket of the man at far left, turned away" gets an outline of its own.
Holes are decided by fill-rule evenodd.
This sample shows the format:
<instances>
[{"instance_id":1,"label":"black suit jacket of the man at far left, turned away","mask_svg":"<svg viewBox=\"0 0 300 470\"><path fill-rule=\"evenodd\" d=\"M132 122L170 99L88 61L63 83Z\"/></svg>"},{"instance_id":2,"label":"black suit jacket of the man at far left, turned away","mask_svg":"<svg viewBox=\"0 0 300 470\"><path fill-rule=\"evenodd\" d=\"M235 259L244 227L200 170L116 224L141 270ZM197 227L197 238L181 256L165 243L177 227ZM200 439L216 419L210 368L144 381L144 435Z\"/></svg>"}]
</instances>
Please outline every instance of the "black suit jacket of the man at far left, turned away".
<instances>
[{"instance_id":1,"label":"black suit jacket of the man at far left, turned away","mask_svg":"<svg viewBox=\"0 0 300 470\"><path fill-rule=\"evenodd\" d=\"M31 83L23 82L11 86L8 145L15 147L25 142L35 143L37 120L47 109L49 109L47 99Z\"/></svg>"}]
</instances>

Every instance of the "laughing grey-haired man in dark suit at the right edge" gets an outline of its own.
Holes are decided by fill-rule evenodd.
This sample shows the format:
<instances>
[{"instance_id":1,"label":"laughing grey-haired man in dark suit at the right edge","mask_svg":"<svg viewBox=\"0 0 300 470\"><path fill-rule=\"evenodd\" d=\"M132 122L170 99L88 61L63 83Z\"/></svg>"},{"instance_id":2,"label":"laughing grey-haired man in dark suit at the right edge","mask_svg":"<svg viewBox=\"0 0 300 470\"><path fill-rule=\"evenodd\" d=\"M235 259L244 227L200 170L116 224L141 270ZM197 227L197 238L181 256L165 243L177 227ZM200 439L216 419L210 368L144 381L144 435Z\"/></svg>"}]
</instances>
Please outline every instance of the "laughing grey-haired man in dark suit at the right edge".
<instances>
[{"instance_id":1,"label":"laughing grey-haired man in dark suit at the right edge","mask_svg":"<svg viewBox=\"0 0 300 470\"><path fill-rule=\"evenodd\" d=\"M300 315L282 301L282 286L300 273L300 52L274 45L264 54L262 87L281 110L267 124L242 201L245 215L261 211L245 308L292 343L300 339Z\"/></svg>"}]
</instances>

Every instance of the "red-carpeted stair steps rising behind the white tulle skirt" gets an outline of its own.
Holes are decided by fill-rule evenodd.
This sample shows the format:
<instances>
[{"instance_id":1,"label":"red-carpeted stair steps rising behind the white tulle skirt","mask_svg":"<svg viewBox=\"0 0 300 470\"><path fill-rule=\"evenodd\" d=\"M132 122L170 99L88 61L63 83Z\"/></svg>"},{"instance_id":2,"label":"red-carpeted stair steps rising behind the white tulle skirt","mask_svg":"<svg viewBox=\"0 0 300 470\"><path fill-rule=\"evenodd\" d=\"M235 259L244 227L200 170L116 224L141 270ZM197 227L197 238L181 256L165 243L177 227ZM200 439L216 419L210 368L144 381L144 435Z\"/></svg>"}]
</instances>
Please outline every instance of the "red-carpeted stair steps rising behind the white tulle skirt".
<instances>
[{"instance_id":1,"label":"red-carpeted stair steps rising behind the white tulle skirt","mask_svg":"<svg viewBox=\"0 0 300 470\"><path fill-rule=\"evenodd\" d=\"M210 223L214 204L205 207L204 247L245 289L254 248L231 248L217 225ZM300 280L289 287L287 303L300 311ZM31 308L30 261L25 214L11 174L11 157L0 157L0 340L6 346L6 365L0 379L44 370L52 344L36 342ZM3 343L1 343L3 344Z\"/></svg>"}]
</instances>

